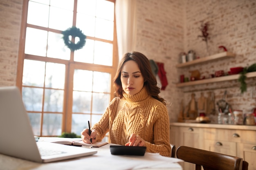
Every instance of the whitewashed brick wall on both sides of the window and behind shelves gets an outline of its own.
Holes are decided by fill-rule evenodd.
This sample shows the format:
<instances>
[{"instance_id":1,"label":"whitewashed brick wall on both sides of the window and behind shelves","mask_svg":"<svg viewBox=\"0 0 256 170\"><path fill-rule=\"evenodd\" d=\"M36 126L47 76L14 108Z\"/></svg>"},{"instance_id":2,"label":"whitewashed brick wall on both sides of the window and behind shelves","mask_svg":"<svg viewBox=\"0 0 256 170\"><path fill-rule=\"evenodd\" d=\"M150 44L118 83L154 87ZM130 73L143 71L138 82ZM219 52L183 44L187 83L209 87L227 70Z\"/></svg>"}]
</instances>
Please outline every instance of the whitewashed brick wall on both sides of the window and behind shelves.
<instances>
[{"instance_id":1,"label":"whitewashed brick wall on both sides of the window and behind shelves","mask_svg":"<svg viewBox=\"0 0 256 170\"><path fill-rule=\"evenodd\" d=\"M21 12L22 0L0 1L0 86L16 84ZM192 90L198 99L201 91L207 97L207 91L213 88L216 101L222 99L227 90L228 102L234 109L249 113L256 107L256 99L251 95L256 89L256 78L249 80L252 86L248 86L243 95L236 81L175 87L181 74L190 75L188 70L175 67L179 53L193 49L200 57L206 55L205 42L198 38L201 20L210 23L210 54L218 53L218 46L224 45L236 53L236 57L191 66L188 70L199 69L202 75L209 75L256 62L256 0L137 0L135 50L165 64L168 86L161 95L169 104L172 103L168 107L170 121L177 121L180 102L184 99L184 104L187 104Z\"/></svg>"}]
</instances>

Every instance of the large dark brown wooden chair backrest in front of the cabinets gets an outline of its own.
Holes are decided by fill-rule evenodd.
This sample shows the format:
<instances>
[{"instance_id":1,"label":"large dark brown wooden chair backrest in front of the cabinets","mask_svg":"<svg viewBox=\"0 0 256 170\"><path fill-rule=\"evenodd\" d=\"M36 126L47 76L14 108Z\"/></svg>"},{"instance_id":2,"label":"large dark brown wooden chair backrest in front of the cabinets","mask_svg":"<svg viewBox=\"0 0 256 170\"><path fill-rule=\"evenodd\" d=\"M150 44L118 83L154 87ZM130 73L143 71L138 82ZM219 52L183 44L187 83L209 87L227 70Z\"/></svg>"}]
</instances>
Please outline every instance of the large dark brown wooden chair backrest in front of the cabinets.
<instances>
[{"instance_id":1,"label":"large dark brown wooden chair backrest in front of the cabinets","mask_svg":"<svg viewBox=\"0 0 256 170\"><path fill-rule=\"evenodd\" d=\"M194 163L195 170L243 170L243 159L208 150L187 146L177 148L176 156L185 162ZM247 166L248 167L248 166Z\"/></svg>"}]
</instances>

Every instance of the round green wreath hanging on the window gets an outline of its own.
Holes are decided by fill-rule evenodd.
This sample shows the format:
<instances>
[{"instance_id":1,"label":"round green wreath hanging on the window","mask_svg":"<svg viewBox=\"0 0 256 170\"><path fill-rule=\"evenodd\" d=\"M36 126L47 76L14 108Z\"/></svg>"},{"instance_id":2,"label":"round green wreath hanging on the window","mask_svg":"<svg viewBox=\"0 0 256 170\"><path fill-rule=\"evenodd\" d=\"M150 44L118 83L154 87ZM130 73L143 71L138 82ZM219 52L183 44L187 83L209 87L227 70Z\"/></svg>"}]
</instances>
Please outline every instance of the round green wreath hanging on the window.
<instances>
[{"instance_id":1,"label":"round green wreath hanging on the window","mask_svg":"<svg viewBox=\"0 0 256 170\"><path fill-rule=\"evenodd\" d=\"M79 28L76 28L75 26L72 26L71 28L68 28L67 30L62 31L62 34L64 35L63 40L65 45L71 51L79 50L83 48L83 46L85 45L86 35L84 35L82 31ZM73 37L78 37L79 42L77 42L76 44L74 42L71 42L69 39L70 35Z\"/></svg>"}]
</instances>

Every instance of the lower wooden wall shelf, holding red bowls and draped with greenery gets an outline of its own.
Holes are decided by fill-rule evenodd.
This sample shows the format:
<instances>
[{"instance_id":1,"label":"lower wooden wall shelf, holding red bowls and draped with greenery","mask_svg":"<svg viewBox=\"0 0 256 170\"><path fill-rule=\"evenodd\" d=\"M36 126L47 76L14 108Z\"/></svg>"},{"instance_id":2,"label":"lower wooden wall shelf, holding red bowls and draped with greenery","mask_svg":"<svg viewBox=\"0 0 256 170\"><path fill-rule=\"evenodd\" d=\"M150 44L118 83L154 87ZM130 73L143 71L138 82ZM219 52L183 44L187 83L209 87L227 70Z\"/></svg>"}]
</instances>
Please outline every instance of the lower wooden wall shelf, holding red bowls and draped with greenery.
<instances>
[{"instance_id":1,"label":"lower wooden wall shelf, holding red bowls and draped with greenery","mask_svg":"<svg viewBox=\"0 0 256 170\"><path fill-rule=\"evenodd\" d=\"M195 81L191 81L191 82L178 83L178 84L176 84L176 87L185 87L185 86L193 86L193 85L198 85L198 84L224 82L224 81L238 79L239 76L240 76L240 74L235 74L235 75L226 75L226 76L221 76L221 77L214 77L214 78L209 78L209 79L195 80ZM247 73L246 77L247 78L256 77L256 71Z\"/></svg>"}]
</instances>

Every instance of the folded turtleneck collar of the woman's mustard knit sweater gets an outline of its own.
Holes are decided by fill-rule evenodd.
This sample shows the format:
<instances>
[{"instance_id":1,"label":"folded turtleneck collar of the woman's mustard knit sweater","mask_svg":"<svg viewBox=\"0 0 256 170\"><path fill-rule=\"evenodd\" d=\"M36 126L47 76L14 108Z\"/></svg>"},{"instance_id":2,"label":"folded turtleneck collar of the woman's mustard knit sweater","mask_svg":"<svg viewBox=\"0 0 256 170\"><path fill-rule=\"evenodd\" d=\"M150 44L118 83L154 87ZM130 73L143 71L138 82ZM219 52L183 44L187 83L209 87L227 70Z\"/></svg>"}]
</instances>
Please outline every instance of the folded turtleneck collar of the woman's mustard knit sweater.
<instances>
[{"instance_id":1,"label":"folded turtleneck collar of the woman's mustard knit sweater","mask_svg":"<svg viewBox=\"0 0 256 170\"><path fill-rule=\"evenodd\" d=\"M146 87L144 86L141 91L139 91L139 93L135 94L135 95L128 95L127 93L125 93L123 91L123 96L124 98L128 101L128 102L141 102L144 99L149 97L149 94L146 90Z\"/></svg>"}]
</instances>

